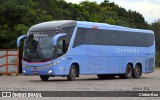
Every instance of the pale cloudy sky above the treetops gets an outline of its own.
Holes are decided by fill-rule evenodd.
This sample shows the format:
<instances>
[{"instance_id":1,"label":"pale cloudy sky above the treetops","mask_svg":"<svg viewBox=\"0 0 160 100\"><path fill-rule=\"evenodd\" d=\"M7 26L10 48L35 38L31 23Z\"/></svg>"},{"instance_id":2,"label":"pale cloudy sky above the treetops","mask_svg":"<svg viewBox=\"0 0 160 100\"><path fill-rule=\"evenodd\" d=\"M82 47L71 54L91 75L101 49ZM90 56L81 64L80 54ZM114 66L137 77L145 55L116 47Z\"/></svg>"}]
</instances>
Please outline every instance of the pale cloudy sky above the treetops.
<instances>
[{"instance_id":1,"label":"pale cloudy sky above the treetops","mask_svg":"<svg viewBox=\"0 0 160 100\"><path fill-rule=\"evenodd\" d=\"M72 3L80 3L84 0L65 0ZM88 0L100 4L104 0ZM137 11L143 15L148 23L153 23L160 19L160 0L109 0L118 4L126 10Z\"/></svg>"}]
</instances>

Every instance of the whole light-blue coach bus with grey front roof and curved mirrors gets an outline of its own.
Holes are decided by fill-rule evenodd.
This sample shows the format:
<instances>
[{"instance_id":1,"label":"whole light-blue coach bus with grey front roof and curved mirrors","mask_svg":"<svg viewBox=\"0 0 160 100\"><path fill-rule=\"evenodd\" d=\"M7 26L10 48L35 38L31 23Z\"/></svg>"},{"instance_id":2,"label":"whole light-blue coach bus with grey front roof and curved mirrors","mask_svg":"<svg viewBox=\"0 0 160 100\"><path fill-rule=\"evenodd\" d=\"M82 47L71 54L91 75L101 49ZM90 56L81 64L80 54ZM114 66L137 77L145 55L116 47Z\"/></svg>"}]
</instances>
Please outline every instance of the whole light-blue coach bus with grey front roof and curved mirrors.
<instances>
[{"instance_id":1,"label":"whole light-blue coach bus with grey front roof and curved mirrors","mask_svg":"<svg viewBox=\"0 0 160 100\"><path fill-rule=\"evenodd\" d=\"M97 75L99 79L139 78L155 68L155 37L151 30L105 23L60 20L32 26L25 39L22 71L49 77Z\"/></svg>"}]
</instances>

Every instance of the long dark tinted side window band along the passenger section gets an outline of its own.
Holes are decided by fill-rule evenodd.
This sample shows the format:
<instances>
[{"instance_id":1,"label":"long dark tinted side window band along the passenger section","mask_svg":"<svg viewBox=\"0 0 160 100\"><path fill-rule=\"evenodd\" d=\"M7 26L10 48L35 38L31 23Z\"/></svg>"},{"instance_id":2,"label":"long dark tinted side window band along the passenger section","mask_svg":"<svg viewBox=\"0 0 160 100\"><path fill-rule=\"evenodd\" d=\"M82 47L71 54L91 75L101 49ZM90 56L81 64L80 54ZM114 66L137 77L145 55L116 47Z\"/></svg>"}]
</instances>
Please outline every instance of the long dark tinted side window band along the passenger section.
<instances>
[{"instance_id":1,"label":"long dark tinted side window band along the passenger section","mask_svg":"<svg viewBox=\"0 0 160 100\"><path fill-rule=\"evenodd\" d=\"M78 28L73 47L83 44L149 47L153 43L153 34Z\"/></svg>"}]
</instances>

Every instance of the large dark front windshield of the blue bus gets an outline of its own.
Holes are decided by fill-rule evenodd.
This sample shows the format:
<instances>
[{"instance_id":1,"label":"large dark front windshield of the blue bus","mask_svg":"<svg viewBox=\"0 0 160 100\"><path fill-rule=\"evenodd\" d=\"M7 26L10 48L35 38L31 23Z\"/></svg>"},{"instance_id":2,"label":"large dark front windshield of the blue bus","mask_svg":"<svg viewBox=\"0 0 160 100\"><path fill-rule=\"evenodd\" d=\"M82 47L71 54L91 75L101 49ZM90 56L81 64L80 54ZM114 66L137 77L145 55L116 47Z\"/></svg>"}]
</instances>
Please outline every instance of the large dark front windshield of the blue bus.
<instances>
[{"instance_id":1,"label":"large dark front windshield of the blue bus","mask_svg":"<svg viewBox=\"0 0 160 100\"><path fill-rule=\"evenodd\" d=\"M29 32L28 34L24 44L23 60L41 62L55 57L52 39L58 31Z\"/></svg>"}]
</instances>

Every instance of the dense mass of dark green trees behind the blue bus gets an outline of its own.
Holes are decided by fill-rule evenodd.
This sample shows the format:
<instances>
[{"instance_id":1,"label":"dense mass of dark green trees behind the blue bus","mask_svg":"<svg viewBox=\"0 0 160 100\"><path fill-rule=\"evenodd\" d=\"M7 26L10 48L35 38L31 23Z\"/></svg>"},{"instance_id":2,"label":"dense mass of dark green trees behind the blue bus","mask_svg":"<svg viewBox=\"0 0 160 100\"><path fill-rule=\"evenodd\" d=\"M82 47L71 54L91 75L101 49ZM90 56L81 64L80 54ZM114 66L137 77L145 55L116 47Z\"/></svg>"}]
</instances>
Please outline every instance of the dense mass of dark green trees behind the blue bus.
<instances>
[{"instance_id":1,"label":"dense mass of dark green trees behind the blue bus","mask_svg":"<svg viewBox=\"0 0 160 100\"><path fill-rule=\"evenodd\" d=\"M1 0L0 48L16 48L16 39L26 34L29 27L52 20L81 20L148 28L140 13L126 11L109 0L101 4L90 1L72 4L65 0Z\"/></svg>"}]
</instances>

